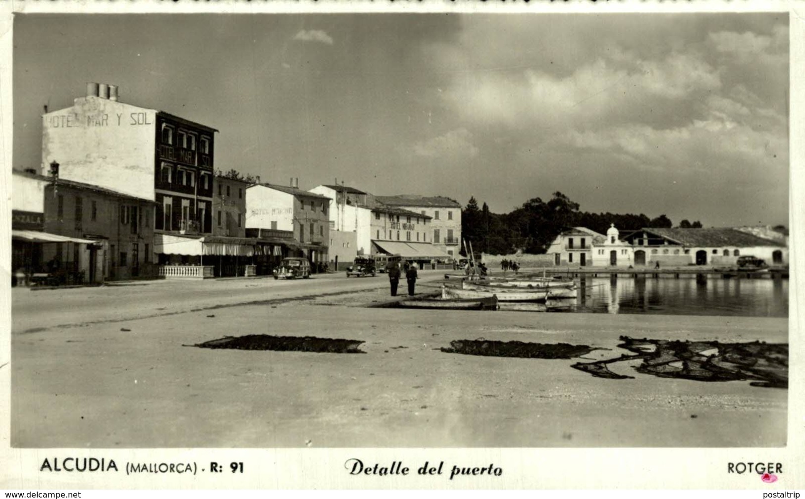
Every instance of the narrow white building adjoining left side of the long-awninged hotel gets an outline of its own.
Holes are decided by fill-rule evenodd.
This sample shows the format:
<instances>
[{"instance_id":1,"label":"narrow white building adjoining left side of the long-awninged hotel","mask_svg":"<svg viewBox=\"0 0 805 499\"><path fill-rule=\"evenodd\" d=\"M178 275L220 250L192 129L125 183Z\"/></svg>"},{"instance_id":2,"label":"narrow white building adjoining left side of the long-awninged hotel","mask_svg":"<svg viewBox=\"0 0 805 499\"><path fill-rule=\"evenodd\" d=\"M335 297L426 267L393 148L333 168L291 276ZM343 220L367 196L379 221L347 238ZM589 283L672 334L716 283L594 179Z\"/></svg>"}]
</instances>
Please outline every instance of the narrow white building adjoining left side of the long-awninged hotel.
<instances>
[{"instance_id":1,"label":"narrow white building adjoining left side of the long-awninged hotel","mask_svg":"<svg viewBox=\"0 0 805 499\"><path fill-rule=\"evenodd\" d=\"M369 205L374 196L345 185L319 185L310 192L330 200L330 267L341 270L358 255L372 254Z\"/></svg>"}]
</instances>

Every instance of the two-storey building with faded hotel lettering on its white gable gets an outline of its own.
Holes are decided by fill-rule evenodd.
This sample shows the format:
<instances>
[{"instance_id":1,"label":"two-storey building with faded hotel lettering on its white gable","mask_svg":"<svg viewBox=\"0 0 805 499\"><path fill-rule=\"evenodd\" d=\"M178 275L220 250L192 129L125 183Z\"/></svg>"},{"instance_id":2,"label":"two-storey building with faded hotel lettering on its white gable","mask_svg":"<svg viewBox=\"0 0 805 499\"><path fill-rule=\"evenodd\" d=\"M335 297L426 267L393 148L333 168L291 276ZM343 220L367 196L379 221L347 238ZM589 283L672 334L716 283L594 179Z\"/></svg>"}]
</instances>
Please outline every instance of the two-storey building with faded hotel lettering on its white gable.
<instances>
[{"instance_id":1,"label":"two-storey building with faded hotel lettering on its white gable","mask_svg":"<svg viewBox=\"0 0 805 499\"><path fill-rule=\"evenodd\" d=\"M253 184L246 188L246 229L288 231L290 256L307 257L314 269L328 262L330 198L286 187Z\"/></svg>"}]
</instances>

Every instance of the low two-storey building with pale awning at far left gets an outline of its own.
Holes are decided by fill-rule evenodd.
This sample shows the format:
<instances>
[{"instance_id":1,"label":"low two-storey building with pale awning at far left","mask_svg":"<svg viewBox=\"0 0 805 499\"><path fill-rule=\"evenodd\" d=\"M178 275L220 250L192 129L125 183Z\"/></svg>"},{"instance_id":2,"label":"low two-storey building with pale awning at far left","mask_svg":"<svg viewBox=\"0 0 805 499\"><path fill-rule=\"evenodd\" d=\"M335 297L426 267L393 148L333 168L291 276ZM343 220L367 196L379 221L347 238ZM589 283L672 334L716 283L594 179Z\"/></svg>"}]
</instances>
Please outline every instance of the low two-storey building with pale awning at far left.
<instances>
[{"instance_id":1,"label":"low two-storey building with pale awning at far left","mask_svg":"<svg viewBox=\"0 0 805 499\"><path fill-rule=\"evenodd\" d=\"M30 171L13 171L12 192L14 270L59 284L156 275L154 201Z\"/></svg>"}]
</instances>

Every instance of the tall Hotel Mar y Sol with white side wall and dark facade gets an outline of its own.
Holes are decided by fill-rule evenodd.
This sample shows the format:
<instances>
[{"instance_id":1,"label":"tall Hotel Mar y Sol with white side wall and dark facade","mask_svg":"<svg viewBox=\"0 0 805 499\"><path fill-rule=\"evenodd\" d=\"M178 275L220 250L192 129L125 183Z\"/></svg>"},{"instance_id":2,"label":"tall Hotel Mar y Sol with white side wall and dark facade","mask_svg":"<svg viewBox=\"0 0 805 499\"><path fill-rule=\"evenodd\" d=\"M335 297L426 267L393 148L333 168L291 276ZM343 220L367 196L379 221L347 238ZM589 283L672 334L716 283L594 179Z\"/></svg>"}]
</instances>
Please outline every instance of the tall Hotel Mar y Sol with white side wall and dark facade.
<instances>
[{"instance_id":1,"label":"tall Hotel Mar y Sol with white side wall and dark facade","mask_svg":"<svg viewBox=\"0 0 805 499\"><path fill-rule=\"evenodd\" d=\"M43 168L56 161L63 179L155 201L150 250L163 267L159 275L213 277L222 270L218 257L254 256L252 241L217 234L217 223L213 228L216 132L175 114L121 102L114 85L89 83L86 96L72 107L43 115ZM224 212L233 216L226 229L221 221L221 231L243 233L235 230L245 229L243 217L237 227L238 210L220 210L222 217ZM219 264L217 270L207 265L211 260Z\"/></svg>"}]
</instances>

